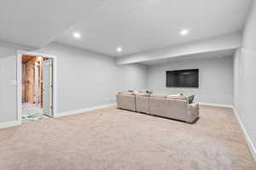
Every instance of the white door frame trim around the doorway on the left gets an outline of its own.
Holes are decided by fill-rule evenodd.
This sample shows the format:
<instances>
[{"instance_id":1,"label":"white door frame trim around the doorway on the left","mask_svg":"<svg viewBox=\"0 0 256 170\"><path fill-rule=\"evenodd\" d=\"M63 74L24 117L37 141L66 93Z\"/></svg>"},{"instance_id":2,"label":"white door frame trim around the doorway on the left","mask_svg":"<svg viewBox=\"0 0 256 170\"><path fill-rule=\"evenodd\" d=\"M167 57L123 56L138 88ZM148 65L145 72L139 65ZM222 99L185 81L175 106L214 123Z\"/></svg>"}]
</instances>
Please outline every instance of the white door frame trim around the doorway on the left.
<instances>
[{"instance_id":1,"label":"white door frame trim around the doorway on the left","mask_svg":"<svg viewBox=\"0 0 256 170\"><path fill-rule=\"evenodd\" d=\"M41 54L37 52L28 52L28 51L18 51L17 53L17 119L18 122L21 123L22 116L22 55L31 55L36 57L45 57L52 59L53 62L53 95L52 95L52 114L53 117L56 116L57 113L57 56L51 54Z\"/></svg>"}]
</instances>

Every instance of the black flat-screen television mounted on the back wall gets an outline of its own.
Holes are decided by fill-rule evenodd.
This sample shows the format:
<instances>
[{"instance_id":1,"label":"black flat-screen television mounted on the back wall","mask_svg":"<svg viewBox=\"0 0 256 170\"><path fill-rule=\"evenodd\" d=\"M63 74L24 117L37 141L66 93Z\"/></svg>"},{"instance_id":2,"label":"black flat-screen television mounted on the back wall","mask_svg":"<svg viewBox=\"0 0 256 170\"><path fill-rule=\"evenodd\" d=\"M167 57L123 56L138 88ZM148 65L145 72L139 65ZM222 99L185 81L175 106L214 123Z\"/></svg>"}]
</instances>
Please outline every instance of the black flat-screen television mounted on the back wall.
<instances>
[{"instance_id":1,"label":"black flat-screen television mounted on the back wall","mask_svg":"<svg viewBox=\"0 0 256 170\"><path fill-rule=\"evenodd\" d=\"M198 69L166 71L167 88L198 88Z\"/></svg>"}]
</instances>

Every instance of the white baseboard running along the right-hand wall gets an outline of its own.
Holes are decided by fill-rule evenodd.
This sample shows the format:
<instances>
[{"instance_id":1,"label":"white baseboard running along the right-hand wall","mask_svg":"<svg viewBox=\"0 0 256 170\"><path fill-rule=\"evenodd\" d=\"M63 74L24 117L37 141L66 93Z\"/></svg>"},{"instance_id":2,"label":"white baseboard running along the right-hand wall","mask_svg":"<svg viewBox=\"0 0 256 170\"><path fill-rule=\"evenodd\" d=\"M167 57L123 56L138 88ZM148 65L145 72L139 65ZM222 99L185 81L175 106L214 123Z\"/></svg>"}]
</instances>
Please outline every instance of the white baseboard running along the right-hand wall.
<instances>
[{"instance_id":1,"label":"white baseboard running along the right-hand wall","mask_svg":"<svg viewBox=\"0 0 256 170\"><path fill-rule=\"evenodd\" d=\"M233 111L236 115L237 122L239 123L239 125L241 127L241 131L242 131L242 133L243 133L243 135L244 135L244 137L247 141L247 145L249 147L249 150L251 151L251 153L253 155L253 159L254 159L254 161L256 161L256 149L253 145L252 139L248 135L246 128L243 126L243 123L241 122L241 117L238 115L235 107L233 108Z\"/></svg>"}]
</instances>

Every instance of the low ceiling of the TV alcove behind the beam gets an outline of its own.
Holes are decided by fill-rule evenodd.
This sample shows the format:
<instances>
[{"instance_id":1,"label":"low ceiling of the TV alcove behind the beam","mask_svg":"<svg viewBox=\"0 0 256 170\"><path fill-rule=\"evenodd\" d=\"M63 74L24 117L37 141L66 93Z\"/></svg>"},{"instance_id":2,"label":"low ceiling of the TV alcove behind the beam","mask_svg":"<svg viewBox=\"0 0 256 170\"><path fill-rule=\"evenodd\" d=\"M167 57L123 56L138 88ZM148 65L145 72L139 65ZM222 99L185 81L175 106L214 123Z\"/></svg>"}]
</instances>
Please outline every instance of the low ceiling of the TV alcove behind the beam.
<instances>
[{"instance_id":1,"label":"low ceiling of the TV alcove behind the beam","mask_svg":"<svg viewBox=\"0 0 256 170\"><path fill-rule=\"evenodd\" d=\"M201 54L189 54L189 55L171 57L167 59L155 59L155 60L143 61L141 62L141 64L161 65L169 62L177 62L177 61L187 62L187 61L196 60L196 59L221 59L224 57L234 56L235 52L236 52L236 49L225 49L225 50L219 50L219 51L213 51L213 52L207 52L207 53L201 53Z\"/></svg>"}]
</instances>

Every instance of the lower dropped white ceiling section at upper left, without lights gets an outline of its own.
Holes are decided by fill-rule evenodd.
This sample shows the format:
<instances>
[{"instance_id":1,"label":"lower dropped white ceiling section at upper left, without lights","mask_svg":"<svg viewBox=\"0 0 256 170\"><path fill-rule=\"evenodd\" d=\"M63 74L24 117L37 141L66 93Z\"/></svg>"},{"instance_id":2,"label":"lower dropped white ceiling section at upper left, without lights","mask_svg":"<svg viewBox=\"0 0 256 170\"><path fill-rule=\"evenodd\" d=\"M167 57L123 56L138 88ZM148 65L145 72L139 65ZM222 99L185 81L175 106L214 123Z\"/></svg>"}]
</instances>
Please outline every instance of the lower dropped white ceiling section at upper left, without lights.
<instances>
[{"instance_id":1,"label":"lower dropped white ceiling section at upper left, without lights","mask_svg":"<svg viewBox=\"0 0 256 170\"><path fill-rule=\"evenodd\" d=\"M0 41L42 48L104 0L1 0Z\"/></svg>"}]
</instances>

